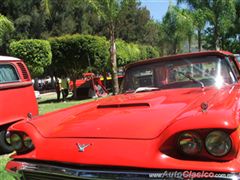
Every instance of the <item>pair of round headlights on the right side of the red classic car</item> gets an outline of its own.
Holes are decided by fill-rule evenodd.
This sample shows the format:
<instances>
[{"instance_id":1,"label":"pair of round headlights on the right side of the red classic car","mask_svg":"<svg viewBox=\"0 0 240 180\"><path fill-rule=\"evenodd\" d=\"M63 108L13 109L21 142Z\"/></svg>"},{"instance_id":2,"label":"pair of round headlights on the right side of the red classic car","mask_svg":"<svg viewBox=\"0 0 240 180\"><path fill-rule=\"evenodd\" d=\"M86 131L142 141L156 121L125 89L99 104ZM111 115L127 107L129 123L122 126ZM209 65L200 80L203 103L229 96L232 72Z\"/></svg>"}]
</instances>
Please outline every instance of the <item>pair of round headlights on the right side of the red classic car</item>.
<instances>
[{"instance_id":1,"label":"pair of round headlights on the right side of the red classic car","mask_svg":"<svg viewBox=\"0 0 240 180\"><path fill-rule=\"evenodd\" d=\"M195 132L184 132L178 138L181 151L188 155L200 153L205 146L207 152L215 157L222 157L231 150L232 142L227 133L220 130L210 132L203 141Z\"/></svg>"}]
</instances>

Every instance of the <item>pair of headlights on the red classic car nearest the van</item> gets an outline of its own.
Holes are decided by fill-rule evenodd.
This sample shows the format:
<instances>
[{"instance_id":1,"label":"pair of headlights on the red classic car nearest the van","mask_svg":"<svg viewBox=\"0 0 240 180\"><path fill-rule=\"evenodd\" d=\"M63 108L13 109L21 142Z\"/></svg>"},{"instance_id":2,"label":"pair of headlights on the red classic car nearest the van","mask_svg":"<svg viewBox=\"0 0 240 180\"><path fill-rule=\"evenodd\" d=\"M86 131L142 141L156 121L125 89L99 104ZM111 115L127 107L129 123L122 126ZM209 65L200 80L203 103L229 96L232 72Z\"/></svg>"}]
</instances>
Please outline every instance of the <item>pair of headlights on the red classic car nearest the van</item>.
<instances>
[{"instance_id":1,"label":"pair of headlights on the red classic car nearest the van","mask_svg":"<svg viewBox=\"0 0 240 180\"><path fill-rule=\"evenodd\" d=\"M34 149L32 139L22 132L11 132L10 142L14 150L18 153L25 153Z\"/></svg>"}]
</instances>

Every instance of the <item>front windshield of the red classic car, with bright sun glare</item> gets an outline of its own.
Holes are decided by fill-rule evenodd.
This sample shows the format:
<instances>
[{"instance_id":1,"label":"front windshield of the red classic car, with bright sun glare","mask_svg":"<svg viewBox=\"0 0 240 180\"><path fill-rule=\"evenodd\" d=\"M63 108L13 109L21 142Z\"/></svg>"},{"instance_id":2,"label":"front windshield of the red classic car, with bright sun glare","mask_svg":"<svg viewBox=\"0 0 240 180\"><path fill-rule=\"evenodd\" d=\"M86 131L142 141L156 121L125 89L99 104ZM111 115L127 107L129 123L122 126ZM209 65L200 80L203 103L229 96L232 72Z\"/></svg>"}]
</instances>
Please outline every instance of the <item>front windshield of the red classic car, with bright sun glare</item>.
<instances>
[{"instance_id":1,"label":"front windshield of the red classic car, with bright sun glare","mask_svg":"<svg viewBox=\"0 0 240 180\"><path fill-rule=\"evenodd\" d=\"M126 71L122 93L192 88L236 82L228 58L207 56L138 65Z\"/></svg>"}]
</instances>

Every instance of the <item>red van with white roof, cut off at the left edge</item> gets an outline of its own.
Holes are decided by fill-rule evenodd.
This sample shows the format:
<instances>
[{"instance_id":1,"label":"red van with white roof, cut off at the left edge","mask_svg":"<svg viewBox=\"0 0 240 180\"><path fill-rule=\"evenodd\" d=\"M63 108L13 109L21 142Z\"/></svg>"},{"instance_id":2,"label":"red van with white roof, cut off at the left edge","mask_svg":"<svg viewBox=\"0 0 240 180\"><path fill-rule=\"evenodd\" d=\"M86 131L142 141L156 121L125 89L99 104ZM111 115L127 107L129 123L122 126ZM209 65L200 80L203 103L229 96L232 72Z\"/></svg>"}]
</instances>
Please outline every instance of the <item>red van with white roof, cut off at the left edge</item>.
<instances>
[{"instance_id":1,"label":"red van with white roof, cut off at the left edge","mask_svg":"<svg viewBox=\"0 0 240 180\"><path fill-rule=\"evenodd\" d=\"M0 153L9 153L7 128L27 116L38 114L30 74L24 62L8 56L0 56Z\"/></svg>"}]
</instances>

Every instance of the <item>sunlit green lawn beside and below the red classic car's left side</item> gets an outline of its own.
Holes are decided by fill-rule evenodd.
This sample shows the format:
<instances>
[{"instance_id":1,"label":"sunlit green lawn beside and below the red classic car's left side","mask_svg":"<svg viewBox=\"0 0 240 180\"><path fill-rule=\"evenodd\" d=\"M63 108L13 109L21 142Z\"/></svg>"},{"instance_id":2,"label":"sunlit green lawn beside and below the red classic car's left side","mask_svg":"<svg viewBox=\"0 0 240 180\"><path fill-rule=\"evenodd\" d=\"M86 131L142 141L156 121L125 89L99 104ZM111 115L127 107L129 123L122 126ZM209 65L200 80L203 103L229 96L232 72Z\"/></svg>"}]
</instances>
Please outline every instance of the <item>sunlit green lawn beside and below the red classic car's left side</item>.
<instances>
[{"instance_id":1,"label":"sunlit green lawn beside and below the red classic car's left side","mask_svg":"<svg viewBox=\"0 0 240 180\"><path fill-rule=\"evenodd\" d=\"M67 108L70 106L74 106L77 104L81 104L84 102L91 101L92 99L88 100L71 100L68 99L66 102L58 102L56 100L55 93L49 93L46 95L42 95L41 98L38 100L39 104L39 114L43 115L47 112L52 112L58 109ZM7 161L9 160L10 155L3 155L0 156L0 180L13 180L13 177L6 173L4 170Z\"/></svg>"}]
</instances>

